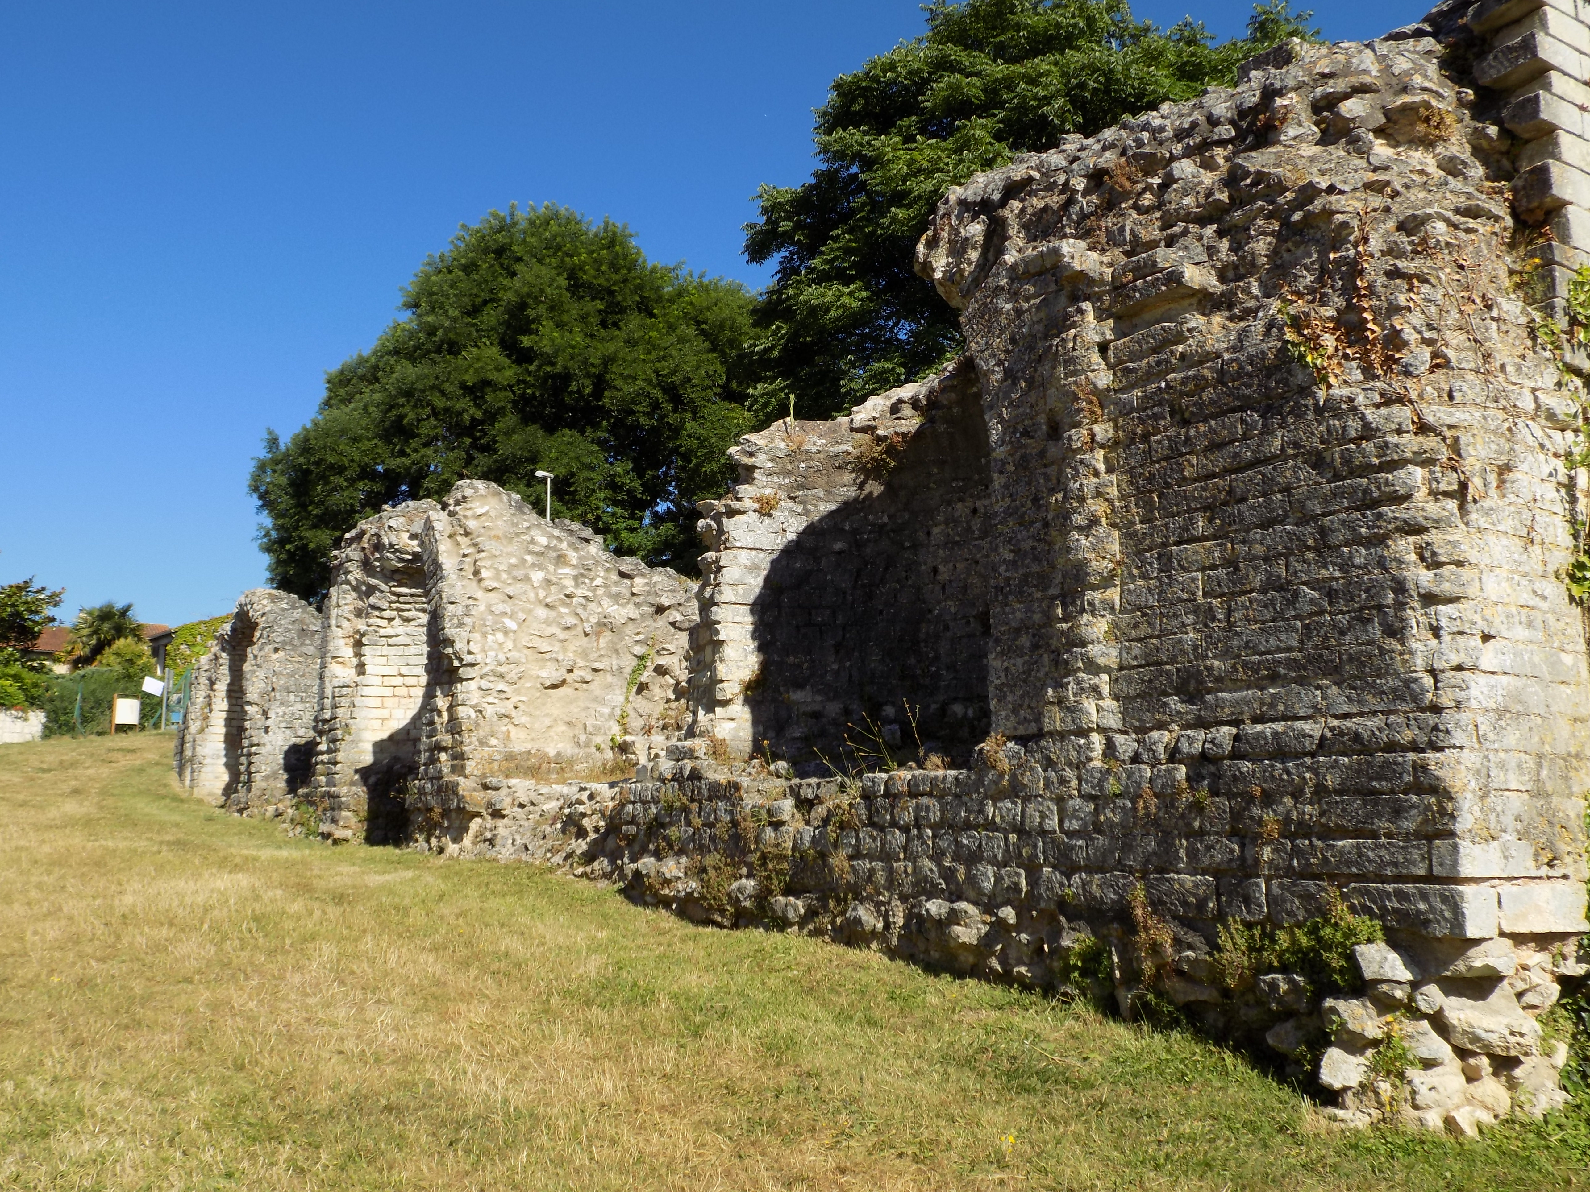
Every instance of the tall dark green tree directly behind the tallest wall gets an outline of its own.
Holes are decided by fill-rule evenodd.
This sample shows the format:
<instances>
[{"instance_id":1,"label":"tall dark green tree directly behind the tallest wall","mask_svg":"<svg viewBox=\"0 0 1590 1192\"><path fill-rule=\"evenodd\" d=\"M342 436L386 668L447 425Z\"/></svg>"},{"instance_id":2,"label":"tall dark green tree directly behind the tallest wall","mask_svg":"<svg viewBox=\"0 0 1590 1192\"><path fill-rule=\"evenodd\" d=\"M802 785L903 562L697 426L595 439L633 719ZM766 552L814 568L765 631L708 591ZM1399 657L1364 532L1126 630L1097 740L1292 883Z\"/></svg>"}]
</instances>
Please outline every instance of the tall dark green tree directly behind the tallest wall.
<instances>
[{"instance_id":1,"label":"tall dark green tree directly behind the tallest wall","mask_svg":"<svg viewBox=\"0 0 1590 1192\"><path fill-rule=\"evenodd\" d=\"M833 81L811 181L758 192L746 256L776 269L755 313L757 423L790 397L805 416L832 416L960 350L956 312L913 272L951 186L1064 134L1229 84L1240 62L1289 37L1318 37L1313 14L1288 0L1258 5L1247 37L1224 45L1191 17L1169 30L1135 21L1126 0L925 10L924 37Z\"/></svg>"}]
</instances>

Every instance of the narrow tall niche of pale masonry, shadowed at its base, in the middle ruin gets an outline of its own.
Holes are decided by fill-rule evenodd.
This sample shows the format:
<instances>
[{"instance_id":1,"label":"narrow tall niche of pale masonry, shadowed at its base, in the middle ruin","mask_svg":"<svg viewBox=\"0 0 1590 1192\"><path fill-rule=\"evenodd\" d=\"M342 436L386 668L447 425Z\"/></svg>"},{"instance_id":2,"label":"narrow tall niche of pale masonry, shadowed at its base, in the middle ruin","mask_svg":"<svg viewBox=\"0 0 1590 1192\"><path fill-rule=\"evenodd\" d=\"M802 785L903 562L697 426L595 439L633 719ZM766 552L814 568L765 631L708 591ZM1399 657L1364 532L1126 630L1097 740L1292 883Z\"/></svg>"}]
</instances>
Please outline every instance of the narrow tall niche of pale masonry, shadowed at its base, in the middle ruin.
<instances>
[{"instance_id":1,"label":"narrow tall niche of pale masonry, shadowed at its base, in the middle ruin","mask_svg":"<svg viewBox=\"0 0 1590 1192\"><path fill-rule=\"evenodd\" d=\"M415 780L429 658L423 566L380 575L355 641L355 774L364 788L364 839L404 838L404 793Z\"/></svg>"}]
</instances>

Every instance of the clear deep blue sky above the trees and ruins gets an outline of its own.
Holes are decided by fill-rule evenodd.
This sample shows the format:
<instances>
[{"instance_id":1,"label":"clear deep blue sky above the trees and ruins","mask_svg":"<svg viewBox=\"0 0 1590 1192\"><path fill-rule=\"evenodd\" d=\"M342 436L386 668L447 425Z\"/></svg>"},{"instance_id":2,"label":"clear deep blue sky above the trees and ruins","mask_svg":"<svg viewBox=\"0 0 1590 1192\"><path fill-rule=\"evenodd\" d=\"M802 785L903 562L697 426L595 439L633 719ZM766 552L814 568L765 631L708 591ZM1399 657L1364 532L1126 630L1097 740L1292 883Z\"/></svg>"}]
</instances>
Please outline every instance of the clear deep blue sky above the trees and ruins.
<instances>
[{"instance_id":1,"label":"clear deep blue sky above the trees and ruins","mask_svg":"<svg viewBox=\"0 0 1590 1192\"><path fill-rule=\"evenodd\" d=\"M1248 11L1194 14L1232 37ZM801 181L828 81L921 30L917 0L5 5L0 582L65 586L68 618L227 612L264 582L261 435L460 223L553 200L758 286L757 184Z\"/></svg>"}]
</instances>

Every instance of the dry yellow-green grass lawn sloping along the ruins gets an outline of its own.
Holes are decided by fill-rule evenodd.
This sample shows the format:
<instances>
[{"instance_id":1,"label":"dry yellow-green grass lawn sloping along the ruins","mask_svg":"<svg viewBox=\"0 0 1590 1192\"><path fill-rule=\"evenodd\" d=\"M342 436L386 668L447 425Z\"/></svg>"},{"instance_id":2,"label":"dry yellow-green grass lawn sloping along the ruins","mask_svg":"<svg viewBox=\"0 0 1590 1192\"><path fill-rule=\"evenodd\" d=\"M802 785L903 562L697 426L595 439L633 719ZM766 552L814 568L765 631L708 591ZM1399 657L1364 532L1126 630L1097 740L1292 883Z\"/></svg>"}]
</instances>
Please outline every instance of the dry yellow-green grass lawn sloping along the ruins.
<instances>
[{"instance_id":1,"label":"dry yellow-green grass lawn sloping along the ruins","mask_svg":"<svg viewBox=\"0 0 1590 1192\"><path fill-rule=\"evenodd\" d=\"M1191 1036L529 866L286 839L169 737L0 747L5 1189L1547 1189Z\"/></svg>"}]
</instances>

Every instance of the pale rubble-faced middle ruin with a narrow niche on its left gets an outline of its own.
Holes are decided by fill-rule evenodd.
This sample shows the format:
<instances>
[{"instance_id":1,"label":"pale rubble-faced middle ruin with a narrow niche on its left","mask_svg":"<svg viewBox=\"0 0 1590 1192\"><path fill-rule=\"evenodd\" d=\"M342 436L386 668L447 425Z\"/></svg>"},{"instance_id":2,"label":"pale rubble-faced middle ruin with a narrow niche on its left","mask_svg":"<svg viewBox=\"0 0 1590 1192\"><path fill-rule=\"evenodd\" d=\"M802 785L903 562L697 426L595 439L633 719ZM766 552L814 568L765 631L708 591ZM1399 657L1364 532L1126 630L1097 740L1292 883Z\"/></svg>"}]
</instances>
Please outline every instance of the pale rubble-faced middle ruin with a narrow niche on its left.
<instances>
[{"instance_id":1,"label":"pale rubble-faced middle ruin with a narrow niche on its left","mask_svg":"<svg viewBox=\"0 0 1590 1192\"><path fill-rule=\"evenodd\" d=\"M332 836L479 807L487 779L552 777L685 720L696 610L682 577L620 559L466 480L363 521L326 598L315 788Z\"/></svg>"}]
</instances>

